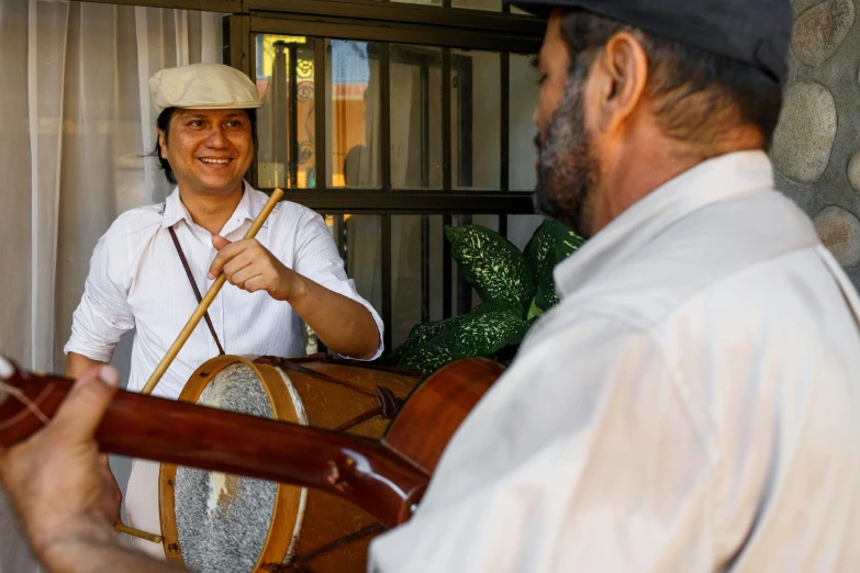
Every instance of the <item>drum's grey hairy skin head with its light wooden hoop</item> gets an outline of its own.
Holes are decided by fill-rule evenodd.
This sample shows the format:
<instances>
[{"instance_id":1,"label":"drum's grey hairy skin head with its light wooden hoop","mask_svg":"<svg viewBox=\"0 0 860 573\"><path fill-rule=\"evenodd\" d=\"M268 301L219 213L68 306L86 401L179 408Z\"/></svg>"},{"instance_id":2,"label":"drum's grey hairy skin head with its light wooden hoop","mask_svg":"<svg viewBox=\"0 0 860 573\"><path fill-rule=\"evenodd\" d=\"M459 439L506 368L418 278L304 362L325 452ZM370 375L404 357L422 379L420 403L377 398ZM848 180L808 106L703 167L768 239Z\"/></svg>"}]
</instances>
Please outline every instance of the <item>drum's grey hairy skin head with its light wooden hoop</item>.
<instances>
[{"instance_id":1,"label":"drum's grey hairy skin head with its light wooden hoop","mask_svg":"<svg viewBox=\"0 0 860 573\"><path fill-rule=\"evenodd\" d=\"M298 422L283 380L268 381L253 363L225 358L203 364L180 400ZM160 485L166 553L198 573L244 573L281 563L306 495L299 487L168 464L161 467ZM170 499L174 507L165 507Z\"/></svg>"}]
</instances>

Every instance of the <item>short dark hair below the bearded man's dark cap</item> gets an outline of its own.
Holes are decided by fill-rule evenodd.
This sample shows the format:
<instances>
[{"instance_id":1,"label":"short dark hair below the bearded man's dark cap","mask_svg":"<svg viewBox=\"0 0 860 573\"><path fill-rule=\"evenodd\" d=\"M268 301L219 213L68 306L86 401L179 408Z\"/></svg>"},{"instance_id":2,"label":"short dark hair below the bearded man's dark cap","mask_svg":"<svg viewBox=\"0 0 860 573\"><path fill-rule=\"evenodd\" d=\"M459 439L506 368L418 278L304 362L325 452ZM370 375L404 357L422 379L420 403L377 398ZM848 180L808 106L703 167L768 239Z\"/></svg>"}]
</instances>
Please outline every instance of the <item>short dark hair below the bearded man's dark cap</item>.
<instances>
[{"instance_id":1,"label":"short dark hair below the bearded man's dark cap","mask_svg":"<svg viewBox=\"0 0 860 573\"><path fill-rule=\"evenodd\" d=\"M593 12L571 10L561 21L571 70L590 67L600 48L618 32L633 33L645 49L650 68L647 89L667 135L707 145L738 125L753 125L761 132L764 147L770 146L780 116L782 86L742 61L656 37Z\"/></svg>"}]
</instances>

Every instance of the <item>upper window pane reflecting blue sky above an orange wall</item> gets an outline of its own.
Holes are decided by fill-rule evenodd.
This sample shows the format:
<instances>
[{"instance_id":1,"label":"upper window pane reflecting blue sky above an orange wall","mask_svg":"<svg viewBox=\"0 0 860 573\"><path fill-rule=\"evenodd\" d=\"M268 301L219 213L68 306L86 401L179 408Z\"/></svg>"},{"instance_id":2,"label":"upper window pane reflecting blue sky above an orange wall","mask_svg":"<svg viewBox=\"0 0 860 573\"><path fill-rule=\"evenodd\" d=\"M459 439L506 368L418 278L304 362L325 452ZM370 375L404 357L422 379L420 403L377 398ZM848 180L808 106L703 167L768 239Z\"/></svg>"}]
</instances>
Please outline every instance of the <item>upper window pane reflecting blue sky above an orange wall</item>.
<instances>
[{"instance_id":1,"label":"upper window pane reflecting blue sky above an orange wall","mask_svg":"<svg viewBox=\"0 0 860 573\"><path fill-rule=\"evenodd\" d=\"M326 40L328 187L378 189L379 44Z\"/></svg>"}]
</instances>

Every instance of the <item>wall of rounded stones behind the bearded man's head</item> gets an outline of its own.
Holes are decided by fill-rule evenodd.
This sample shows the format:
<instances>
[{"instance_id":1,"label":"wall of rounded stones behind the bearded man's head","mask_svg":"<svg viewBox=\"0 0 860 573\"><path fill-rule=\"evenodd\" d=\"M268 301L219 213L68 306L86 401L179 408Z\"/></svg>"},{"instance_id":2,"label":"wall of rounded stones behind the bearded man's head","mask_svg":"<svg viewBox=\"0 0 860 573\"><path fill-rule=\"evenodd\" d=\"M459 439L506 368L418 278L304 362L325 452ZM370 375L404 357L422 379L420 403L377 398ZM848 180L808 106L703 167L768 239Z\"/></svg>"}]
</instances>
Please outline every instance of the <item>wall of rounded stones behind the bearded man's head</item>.
<instances>
[{"instance_id":1,"label":"wall of rounded stones behind the bearded man's head","mask_svg":"<svg viewBox=\"0 0 860 573\"><path fill-rule=\"evenodd\" d=\"M860 288L860 23L855 0L793 0L794 37L771 156ZM767 18L762 14L762 18Z\"/></svg>"}]
</instances>

